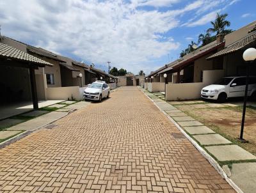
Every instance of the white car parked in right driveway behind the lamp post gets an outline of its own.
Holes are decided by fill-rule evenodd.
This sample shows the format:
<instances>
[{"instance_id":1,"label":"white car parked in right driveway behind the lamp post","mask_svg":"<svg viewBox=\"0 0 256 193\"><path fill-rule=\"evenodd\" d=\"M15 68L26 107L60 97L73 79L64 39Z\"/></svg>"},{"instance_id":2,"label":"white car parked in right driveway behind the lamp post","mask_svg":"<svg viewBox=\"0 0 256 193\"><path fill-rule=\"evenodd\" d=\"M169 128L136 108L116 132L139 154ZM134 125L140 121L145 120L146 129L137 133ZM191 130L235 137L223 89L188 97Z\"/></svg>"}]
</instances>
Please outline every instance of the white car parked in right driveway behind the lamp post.
<instances>
[{"instance_id":1,"label":"white car parked in right driveway behind the lamp post","mask_svg":"<svg viewBox=\"0 0 256 193\"><path fill-rule=\"evenodd\" d=\"M227 98L244 96L246 77L224 77L215 84L206 86L201 91L201 97L225 102ZM256 98L256 77L249 78L248 96Z\"/></svg>"}]
</instances>

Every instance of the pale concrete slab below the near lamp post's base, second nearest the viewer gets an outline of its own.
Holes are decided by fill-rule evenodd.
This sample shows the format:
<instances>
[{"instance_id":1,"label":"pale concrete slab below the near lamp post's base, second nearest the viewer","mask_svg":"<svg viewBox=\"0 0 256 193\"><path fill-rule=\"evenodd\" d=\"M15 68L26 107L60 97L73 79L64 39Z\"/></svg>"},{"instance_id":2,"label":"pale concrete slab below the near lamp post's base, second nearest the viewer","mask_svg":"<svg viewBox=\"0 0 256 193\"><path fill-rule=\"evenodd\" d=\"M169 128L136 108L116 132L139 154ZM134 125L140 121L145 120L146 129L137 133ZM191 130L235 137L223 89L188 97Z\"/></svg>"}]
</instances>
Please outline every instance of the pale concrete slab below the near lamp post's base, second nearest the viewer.
<instances>
[{"instance_id":1,"label":"pale concrete slab below the near lamp post's base, second nearest the viewer","mask_svg":"<svg viewBox=\"0 0 256 193\"><path fill-rule=\"evenodd\" d=\"M230 161L230 160L253 160L256 159L252 153L240 148L237 145L226 145L226 146L207 146L205 147L214 157L219 161Z\"/></svg>"}]
</instances>

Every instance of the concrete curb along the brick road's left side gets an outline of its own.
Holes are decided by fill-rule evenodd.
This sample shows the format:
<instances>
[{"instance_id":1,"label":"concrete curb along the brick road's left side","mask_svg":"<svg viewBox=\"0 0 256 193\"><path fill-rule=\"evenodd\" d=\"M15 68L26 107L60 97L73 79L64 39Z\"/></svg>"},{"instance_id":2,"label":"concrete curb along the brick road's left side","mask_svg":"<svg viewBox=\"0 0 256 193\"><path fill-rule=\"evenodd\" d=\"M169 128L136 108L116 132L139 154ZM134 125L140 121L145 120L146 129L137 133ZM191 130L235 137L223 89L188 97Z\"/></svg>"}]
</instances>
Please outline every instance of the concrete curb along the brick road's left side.
<instances>
[{"instance_id":1,"label":"concrete curb along the brick road's left side","mask_svg":"<svg viewBox=\"0 0 256 193\"><path fill-rule=\"evenodd\" d=\"M15 143L16 141L19 141L23 137L26 137L29 134L32 134L36 130L38 130L38 129L42 128L42 127L45 127L46 125L49 125L49 124L51 124L51 123L53 123L55 121L58 121L58 120L62 119L63 117L67 116L68 114L70 114L70 113L72 113L74 111L76 111L76 109L72 109L72 110L68 111L66 114L64 114L63 116L61 116L60 118L57 118L57 119L55 119L55 120L53 120L53 121L51 121L49 123L41 125L40 127L37 127L37 128L35 128L33 130L29 130L29 131L25 131L25 132L21 132L22 130L20 130L20 132L21 132L20 134L15 135L14 137L11 137L10 139L7 139L6 141L3 141L2 143L0 143L0 149L4 148L4 147L6 147L6 146L8 146L8 145L10 145L12 143Z\"/></svg>"}]
</instances>

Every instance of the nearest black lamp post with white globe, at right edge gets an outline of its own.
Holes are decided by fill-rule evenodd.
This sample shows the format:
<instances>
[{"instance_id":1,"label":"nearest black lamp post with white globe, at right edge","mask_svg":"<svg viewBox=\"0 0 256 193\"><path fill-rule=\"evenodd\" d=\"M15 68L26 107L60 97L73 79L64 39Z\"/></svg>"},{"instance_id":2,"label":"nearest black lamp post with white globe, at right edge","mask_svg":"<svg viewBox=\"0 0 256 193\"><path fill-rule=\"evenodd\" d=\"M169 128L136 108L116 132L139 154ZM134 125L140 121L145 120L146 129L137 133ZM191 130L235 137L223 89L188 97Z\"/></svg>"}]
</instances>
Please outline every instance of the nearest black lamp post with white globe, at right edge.
<instances>
[{"instance_id":1,"label":"nearest black lamp post with white globe, at right edge","mask_svg":"<svg viewBox=\"0 0 256 193\"><path fill-rule=\"evenodd\" d=\"M240 137L237 139L239 141L245 143L247 141L245 139L243 139L243 132L244 132L246 102L247 102L247 98L248 98L249 73L250 73L250 65L256 59L256 49L255 48L246 49L243 53L243 59L244 59L244 61L246 61L246 83L245 83L245 91L244 91L244 105L243 105L243 117L242 117L242 123L241 123L241 132L240 132Z\"/></svg>"}]
</instances>

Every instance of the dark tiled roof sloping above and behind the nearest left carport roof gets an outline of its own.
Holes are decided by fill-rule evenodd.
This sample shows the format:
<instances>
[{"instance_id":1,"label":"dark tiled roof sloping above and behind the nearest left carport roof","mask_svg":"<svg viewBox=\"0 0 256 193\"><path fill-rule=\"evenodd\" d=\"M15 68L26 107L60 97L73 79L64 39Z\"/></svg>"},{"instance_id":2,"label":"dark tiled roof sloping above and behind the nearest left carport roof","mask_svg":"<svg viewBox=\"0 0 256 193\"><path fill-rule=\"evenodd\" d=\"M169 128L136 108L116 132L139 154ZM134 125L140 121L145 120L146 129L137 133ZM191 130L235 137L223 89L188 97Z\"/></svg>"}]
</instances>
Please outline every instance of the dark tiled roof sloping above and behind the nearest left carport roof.
<instances>
[{"instance_id":1,"label":"dark tiled roof sloping above and behind the nearest left carport roof","mask_svg":"<svg viewBox=\"0 0 256 193\"><path fill-rule=\"evenodd\" d=\"M10 40L13 40L15 42L19 42L23 45L26 45L26 48L29 52L32 52L34 54L38 54L40 56L44 56L44 57L47 57L47 58L51 58L51 59L54 59L54 60L58 60L58 61L62 61L61 59L59 59L57 57L56 54L50 52L49 50L45 50L45 49L42 49L41 47L35 47L33 45L29 45L28 43L24 43L24 42L20 42L20 41L17 41L17 40L14 40L12 38L9 38L9 37L6 37L6 36L3 36L4 38L8 38Z\"/></svg>"}]
</instances>

